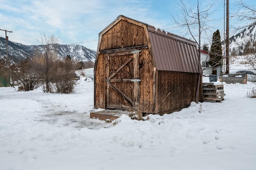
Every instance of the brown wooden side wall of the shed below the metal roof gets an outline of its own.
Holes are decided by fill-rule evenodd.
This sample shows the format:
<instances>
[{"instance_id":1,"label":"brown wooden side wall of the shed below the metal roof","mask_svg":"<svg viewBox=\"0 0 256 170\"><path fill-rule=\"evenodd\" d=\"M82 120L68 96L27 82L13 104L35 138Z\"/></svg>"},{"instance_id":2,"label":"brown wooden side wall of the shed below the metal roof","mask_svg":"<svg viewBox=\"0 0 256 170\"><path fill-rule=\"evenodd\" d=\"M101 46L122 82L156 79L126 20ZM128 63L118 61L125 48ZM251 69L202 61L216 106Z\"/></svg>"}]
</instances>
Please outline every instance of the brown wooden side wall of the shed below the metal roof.
<instances>
[{"instance_id":1,"label":"brown wooden side wall of the shed below the metal roof","mask_svg":"<svg viewBox=\"0 0 256 170\"><path fill-rule=\"evenodd\" d=\"M172 113L195 101L197 73L158 71L158 103L156 113ZM200 88L202 94L202 88ZM199 95L201 96L201 95ZM202 98L200 97L199 101Z\"/></svg>"}]
</instances>

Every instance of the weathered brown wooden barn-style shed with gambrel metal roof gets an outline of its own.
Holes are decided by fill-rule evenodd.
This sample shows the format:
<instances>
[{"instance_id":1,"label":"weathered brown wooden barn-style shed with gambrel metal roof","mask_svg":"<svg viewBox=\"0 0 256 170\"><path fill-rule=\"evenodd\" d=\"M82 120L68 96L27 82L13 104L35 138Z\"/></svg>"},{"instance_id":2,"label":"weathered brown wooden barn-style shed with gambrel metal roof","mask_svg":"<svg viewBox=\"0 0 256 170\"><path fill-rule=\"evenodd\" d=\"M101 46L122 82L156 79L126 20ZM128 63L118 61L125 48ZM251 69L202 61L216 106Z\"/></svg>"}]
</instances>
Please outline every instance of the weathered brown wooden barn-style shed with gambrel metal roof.
<instances>
[{"instance_id":1,"label":"weathered brown wooden barn-style shed with gambrel metal roof","mask_svg":"<svg viewBox=\"0 0 256 170\"><path fill-rule=\"evenodd\" d=\"M198 64L194 41L120 15L99 33L94 107L140 106L160 115L188 107L195 100Z\"/></svg>"}]
</instances>

